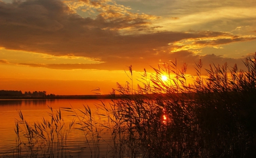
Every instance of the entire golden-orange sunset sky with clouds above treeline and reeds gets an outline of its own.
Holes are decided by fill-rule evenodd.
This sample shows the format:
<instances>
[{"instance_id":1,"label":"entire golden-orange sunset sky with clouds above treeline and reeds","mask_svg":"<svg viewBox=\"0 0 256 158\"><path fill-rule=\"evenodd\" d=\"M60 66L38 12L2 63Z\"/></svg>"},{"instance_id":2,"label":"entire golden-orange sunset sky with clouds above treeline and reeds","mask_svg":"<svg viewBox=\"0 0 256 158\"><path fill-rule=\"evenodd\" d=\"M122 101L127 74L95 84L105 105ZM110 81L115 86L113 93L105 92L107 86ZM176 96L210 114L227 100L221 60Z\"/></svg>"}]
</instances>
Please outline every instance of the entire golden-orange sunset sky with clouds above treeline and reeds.
<instances>
[{"instance_id":1,"label":"entire golden-orange sunset sky with clouds above treeline and reeds","mask_svg":"<svg viewBox=\"0 0 256 158\"><path fill-rule=\"evenodd\" d=\"M0 0L0 90L109 94L177 60L243 68L255 0Z\"/></svg>"}]
</instances>

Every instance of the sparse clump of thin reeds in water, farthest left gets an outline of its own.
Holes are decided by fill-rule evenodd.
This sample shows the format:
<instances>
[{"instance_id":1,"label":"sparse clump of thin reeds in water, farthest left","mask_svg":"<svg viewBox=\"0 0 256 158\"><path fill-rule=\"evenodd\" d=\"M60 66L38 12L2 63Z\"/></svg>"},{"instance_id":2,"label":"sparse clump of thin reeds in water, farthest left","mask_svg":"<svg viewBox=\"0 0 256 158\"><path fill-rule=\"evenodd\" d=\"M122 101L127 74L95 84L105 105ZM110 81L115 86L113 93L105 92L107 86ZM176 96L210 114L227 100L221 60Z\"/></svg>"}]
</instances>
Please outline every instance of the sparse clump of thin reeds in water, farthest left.
<instances>
[{"instance_id":1,"label":"sparse clump of thin reeds in water, farthest left","mask_svg":"<svg viewBox=\"0 0 256 158\"><path fill-rule=\"evenodd\" d=\"M53 111L51 107L49 117L42 118L42 122L30 124L23 117L22 111L18 111L19 119L16 119L16 148L15 157L64 157L69 156L67 138L75 120L67 127L61 116L61 110Z\"/></svg>"}]
</instances>

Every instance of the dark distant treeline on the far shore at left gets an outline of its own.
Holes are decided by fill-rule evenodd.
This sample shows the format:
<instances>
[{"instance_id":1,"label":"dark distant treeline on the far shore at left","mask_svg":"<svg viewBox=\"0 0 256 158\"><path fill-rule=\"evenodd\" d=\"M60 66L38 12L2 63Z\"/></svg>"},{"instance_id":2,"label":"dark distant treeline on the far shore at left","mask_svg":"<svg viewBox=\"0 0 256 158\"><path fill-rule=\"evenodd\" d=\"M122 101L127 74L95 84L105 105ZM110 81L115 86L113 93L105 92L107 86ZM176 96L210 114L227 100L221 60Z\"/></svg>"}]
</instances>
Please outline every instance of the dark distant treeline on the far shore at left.
<instances>
[{"instance_id":1,"label":"dark distant treeline on the far shore at left","mask_svg":"<svg viewBox=\"0 0 256 158\"><path fill-rule=\"evenodd\" d=\"M55 97L55 94L46 94L46 91L22 93L21 90L0 90L0 97Z\"/></svg>"}]
</instances>

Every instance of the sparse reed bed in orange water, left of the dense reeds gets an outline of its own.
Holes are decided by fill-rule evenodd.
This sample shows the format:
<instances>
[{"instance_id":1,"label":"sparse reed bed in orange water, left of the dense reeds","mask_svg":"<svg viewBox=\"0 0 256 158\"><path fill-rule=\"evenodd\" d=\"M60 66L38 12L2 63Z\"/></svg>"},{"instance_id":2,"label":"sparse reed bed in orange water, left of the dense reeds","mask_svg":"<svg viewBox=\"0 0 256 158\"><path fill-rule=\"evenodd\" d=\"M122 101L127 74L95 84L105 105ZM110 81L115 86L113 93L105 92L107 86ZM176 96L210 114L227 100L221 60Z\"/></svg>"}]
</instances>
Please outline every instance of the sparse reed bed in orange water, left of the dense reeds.
<instances>
[{"instance_id":1,"label":"sparse reed bed in orange water, left of the dense reeds","mask_svg":"<svg viewBox=\"0 0 256 158\"><path fill-rule=\"evenodd\" d=\"M112 142L105 140L111 139L109 127L101 123L103 122L101 119L105 119L106 115L98 113L99 107L104 107L103 105L104 102L98 105L96 110L85 105L82 109L73 109L72 105L60 107L59 110L49 107L50 119L42 118L42 122L34 123L28 122L23 117L22 111L18 111L19 119L15 121L16 147L13 157L104 157L112 155L110 151ZM69 117L69 120L70 117L73 119L67 123L64 117ZM72 151L74 148L69 148L67 144L68 136L76 131L82 131L79 133L83 135L84 143L80 144L80 147L76 145L78 148ZM105 135L110 138L106 138ZM74 152L82 152L83 155ZM9 156L6 155L6 157Z\"/></svg>"}]
</instances>

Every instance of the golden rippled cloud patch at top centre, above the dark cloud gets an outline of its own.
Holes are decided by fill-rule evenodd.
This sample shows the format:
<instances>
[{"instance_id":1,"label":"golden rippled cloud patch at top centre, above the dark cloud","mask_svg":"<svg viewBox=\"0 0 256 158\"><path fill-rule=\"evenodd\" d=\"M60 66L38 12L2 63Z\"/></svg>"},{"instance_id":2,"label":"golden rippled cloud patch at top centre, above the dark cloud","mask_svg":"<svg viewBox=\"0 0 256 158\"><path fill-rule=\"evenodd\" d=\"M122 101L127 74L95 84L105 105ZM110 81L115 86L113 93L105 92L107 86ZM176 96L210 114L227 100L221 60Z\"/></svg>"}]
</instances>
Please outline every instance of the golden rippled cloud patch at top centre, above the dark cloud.
<instances>
[{"instance_id":1,"label":"golden rippled cloud patch at top centre, above the dark cloud","mask_svg":"<svg viewBox=\"0 0 256 158\"><path fill-rule=\"evenodd\" d=\"M66 4L73 10L80 9L85 12L89 11L90 13L95 13L94 15L97 22L101 20L101 22L97 24L101 24L101 27L110 30L125 29L126 31L129 31L135 29L138 31L141 27L148 27L148 24L151 24L150 20L158 18L154 15L132 13L129 7L117 5L117 3L111 0L80 0L75 3L76 5L74 5L73 1L66 2Z\"/></svg>"}]
</instances>

